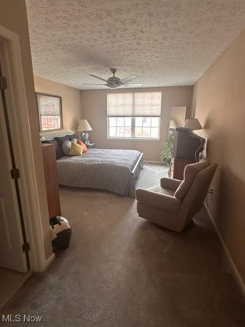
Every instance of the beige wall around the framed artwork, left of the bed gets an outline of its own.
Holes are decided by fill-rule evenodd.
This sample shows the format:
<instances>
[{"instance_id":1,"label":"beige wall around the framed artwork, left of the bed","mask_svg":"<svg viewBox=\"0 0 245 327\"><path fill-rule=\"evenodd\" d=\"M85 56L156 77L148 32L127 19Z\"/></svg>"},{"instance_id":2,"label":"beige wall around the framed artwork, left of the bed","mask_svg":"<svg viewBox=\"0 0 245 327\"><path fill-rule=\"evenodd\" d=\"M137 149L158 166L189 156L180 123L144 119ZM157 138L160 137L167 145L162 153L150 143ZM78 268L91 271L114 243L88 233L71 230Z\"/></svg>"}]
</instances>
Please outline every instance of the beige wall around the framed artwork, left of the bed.
<instances>
[{"instance_id":1,"label":"beige wall around the framed artwork, left of the bed","mask_svg":"<svg viewBox=\"0 0 245 327\"><path fill-rule=\"evenodd\" d=\"M62 97L63 129L65 131L76 130L82 118L80 90L39 76L34 76L34 83L36 92ZM48 134L48 132L42 134Z\"/></svg>"}]
</instances>

